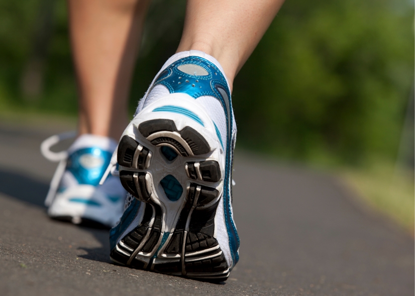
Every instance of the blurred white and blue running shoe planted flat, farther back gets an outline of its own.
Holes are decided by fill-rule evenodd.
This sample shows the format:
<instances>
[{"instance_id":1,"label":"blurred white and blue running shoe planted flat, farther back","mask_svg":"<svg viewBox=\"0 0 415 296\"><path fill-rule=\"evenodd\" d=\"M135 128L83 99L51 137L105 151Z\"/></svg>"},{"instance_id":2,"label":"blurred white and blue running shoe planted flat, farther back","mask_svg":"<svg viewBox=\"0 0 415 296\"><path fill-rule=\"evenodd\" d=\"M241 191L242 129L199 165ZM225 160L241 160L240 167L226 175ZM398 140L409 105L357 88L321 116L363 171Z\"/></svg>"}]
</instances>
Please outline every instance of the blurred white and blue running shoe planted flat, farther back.
<instances>
[{"instance_id":1,"label":"blurred white and blue running shoe planted flat, farther back","mask_svg":"<svg viewBox=\"0 0 415 296\"><path fill-rule=\"evenodd\" d=\"M59 141L75 136L75 132L54 135L41 145L47 159L59 161L45 199L48 215L74 224L110 228L122 215L126 192L118 177L108 177L101 186L99 182L117 144L110 138L87 134L78 137L67 151L50 151Z\"/></svg>"}]
</instances>

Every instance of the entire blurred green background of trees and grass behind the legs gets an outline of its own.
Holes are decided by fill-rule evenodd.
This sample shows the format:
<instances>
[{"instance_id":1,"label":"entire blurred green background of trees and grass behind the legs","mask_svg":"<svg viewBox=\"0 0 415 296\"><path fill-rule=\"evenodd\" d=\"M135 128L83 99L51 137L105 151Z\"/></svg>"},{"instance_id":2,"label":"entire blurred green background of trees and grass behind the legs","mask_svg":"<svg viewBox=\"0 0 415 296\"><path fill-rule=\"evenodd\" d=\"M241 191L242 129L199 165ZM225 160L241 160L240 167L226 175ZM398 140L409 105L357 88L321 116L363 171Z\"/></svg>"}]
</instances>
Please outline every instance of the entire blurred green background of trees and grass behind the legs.
<instances>
[{"instance_id":1,"label":"entire blurred green background of trees and grass behind the legs","mask_svg":"<svg viewBox=\"0 0 415 296\"><path fill-rule=\"evenodd\" d=\"M131 114L184 8L152 2ZM413 2L287 0L235 80L238 147L331 170L413 229L413 88ZM76 116L65 0L0 0L0 110Z\"/></svg>"}]
</instances>

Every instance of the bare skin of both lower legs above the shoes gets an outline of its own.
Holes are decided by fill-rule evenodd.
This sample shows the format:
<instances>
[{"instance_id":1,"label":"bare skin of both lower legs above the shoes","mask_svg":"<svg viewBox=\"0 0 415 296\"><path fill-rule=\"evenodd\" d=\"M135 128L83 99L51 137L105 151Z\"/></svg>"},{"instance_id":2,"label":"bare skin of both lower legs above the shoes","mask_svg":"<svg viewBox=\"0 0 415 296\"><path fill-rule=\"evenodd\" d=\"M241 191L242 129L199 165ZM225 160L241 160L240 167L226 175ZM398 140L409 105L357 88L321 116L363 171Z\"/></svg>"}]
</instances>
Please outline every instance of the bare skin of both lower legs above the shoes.
<instances>
[{"instance_id":1,"label":"bare skin of both lower legs above the shoes","mask_svg":"<svg viewBox=\"0 0 415 296\"><path fill-rule=\"evenodd\" d=\"M177 52L201 50L233 80L284 0L188 0ZM68 0L79 134L118 140L149 0Z\"/></svg>"}]
</instances>

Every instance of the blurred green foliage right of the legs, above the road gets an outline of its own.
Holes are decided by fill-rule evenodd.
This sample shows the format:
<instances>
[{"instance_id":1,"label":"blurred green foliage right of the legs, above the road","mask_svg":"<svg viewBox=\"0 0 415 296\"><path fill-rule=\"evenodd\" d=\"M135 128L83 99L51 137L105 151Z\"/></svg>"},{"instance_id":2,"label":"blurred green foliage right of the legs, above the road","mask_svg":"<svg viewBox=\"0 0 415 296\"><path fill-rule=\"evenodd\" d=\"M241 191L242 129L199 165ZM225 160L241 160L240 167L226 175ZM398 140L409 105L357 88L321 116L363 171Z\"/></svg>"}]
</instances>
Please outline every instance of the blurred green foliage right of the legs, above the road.
<instances>
[{"instance_id":1,"label":"blurred green foliage right of the legs, above the road","mask_svg":"<svg viewBox=\"0 0 415 296\"><path fill-rule=\"evenodd\" d=\"M395 157L414 79L413 9L389 4L287 1L235 81L239 143L326 164Z\"/></svg>"}]
</instances>

